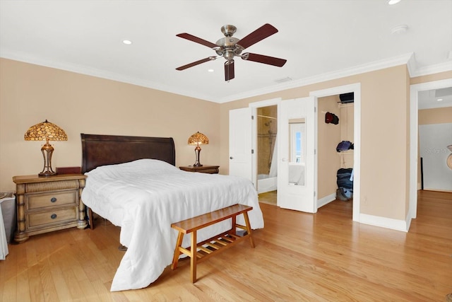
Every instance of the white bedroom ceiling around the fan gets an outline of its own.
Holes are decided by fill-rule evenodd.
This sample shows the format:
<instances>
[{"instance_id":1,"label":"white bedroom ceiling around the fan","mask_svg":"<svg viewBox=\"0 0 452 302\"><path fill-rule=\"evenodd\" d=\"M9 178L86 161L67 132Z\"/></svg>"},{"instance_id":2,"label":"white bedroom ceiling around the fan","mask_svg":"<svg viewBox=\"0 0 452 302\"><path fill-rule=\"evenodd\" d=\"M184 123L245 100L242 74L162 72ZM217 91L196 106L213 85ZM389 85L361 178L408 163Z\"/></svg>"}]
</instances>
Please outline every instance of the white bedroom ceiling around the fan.
<instances>
[{"instance_id":1,"label":"white bedroom ceiling around the fan","mask_svg":"<svg viewBox=\"0 0 452 302\"><path fill-rule=\"evenodd\" d=\"M224 103L384 66L452 70L451 16L452 0L0 0L0 56ZM215 55L178 33L215 43L222 25L240 39L265 23L279 32L246 52L285 66L237 58L230 82L222 58L176 70Z\"/></svg>"}]
</instances>

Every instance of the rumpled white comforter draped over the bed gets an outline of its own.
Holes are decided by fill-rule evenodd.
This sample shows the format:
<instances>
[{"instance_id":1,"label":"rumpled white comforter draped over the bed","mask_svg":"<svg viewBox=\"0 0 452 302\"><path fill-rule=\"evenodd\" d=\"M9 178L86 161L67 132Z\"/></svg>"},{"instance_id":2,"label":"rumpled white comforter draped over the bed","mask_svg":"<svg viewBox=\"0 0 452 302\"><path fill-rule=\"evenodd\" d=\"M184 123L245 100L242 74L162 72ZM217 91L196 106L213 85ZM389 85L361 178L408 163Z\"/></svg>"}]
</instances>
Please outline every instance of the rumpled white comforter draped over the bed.
<instances>
[{"instance_id":1,"label":"rumpled white comforter draped over the bed","mask_svg":"<svg viewBox=\"0 0 452 302\"><path fill-rule=\"evenodd\" d=\"M249 180L229 175L191 173L153 159L105 165L86 173L83 203L121 226L120 242L128 247L111 291L141 289L155 281L172 262L177 231L171 223L246 204L251 228L263 228L257 192ZM244 223L242 215L238 223ZM198 240L230 228L230 221L198 231ZM189 246L190 236L184 236Z\"/></svg>"}]
</instances>

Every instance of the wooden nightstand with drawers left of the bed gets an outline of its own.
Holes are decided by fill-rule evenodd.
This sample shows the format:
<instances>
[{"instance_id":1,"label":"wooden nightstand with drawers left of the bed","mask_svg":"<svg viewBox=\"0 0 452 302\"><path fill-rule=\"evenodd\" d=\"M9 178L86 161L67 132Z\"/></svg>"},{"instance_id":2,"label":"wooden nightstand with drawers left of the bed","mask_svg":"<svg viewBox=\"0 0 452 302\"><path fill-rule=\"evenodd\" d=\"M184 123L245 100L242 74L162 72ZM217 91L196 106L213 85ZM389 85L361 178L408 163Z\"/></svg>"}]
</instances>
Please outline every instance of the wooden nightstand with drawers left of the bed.
<instances>
[{"instance_id":1,"label":"wooden nightstand with drawers left of the bed","mask_svg":"<svg viewBox=\"0 0 452 302\"><path fill-rule=\"evenodd\" d=\"M14 240L23 243L32 235L74 226L85 228L85 205L81 201L85 179L82 174L14 176L18 223Z\"/></svg>"}]
</instances>

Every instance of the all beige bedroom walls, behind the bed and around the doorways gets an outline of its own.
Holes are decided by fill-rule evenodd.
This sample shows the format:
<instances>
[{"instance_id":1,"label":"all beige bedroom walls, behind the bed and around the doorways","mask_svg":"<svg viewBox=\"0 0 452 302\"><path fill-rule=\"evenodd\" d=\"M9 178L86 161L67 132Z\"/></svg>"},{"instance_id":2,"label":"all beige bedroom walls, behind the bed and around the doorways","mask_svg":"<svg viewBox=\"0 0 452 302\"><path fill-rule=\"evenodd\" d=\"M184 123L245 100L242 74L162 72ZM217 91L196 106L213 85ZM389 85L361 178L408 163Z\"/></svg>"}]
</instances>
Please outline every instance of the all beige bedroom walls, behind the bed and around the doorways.
<instances>
[{"instance_id":1,"label":"all beige bedroom walls, behind the bed and around the doorways","mask_svg":"<svg viewBox=\"0 0 452 302\"><path fill-rule=\"evenodd\" d=\"M0 190L13 190L13 175L42 170L40 144L23 141L23 134L44 119L61 126L69 136L69 141L54 144L54 167L81 164L80 133L174 137L177 165L189 165L194 162L194 150L186 139L200 131L210 139L210 144L203 146L201 162L219 164L220 173L228 173L230 109L361 83L361 213L404 220L408 211L410 84L450 78L452 72L410 79L406 66L395 66L215 104L0 59Z\"/></svg>"}]
</instances>

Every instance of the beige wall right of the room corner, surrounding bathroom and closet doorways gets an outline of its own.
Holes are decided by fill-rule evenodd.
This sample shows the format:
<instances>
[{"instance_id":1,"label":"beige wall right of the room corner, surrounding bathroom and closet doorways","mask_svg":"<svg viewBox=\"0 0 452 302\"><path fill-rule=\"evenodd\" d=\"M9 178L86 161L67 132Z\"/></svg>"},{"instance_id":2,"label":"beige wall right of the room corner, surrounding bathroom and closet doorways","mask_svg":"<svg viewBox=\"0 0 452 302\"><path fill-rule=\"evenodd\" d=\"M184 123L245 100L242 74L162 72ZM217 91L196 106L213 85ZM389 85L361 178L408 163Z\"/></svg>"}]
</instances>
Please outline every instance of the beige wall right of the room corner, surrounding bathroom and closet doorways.
<instances>
[{"instance_id":1,"label":"beige wall right of the room corner, surrounding bathroom and closet doorways","mask_svg":"<svg viewBox=\"0 0 452 302\"><path fill-rule=\"evenodd\" d=\"M352 83L361 83L361 213L405 220L409 198L406 172L409 129L406 121L410 100L410 78L406 66L395 66L222 104L220 164L224 169L227 167L230 109L278 97L283 100L304 97L310 91Z\"/></svg>"}]
</instances>

